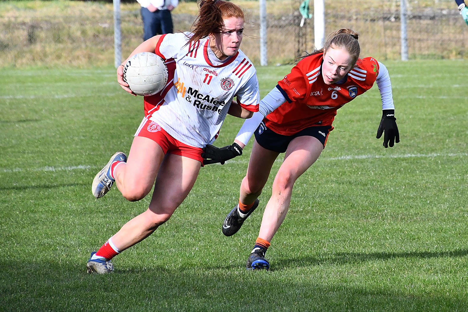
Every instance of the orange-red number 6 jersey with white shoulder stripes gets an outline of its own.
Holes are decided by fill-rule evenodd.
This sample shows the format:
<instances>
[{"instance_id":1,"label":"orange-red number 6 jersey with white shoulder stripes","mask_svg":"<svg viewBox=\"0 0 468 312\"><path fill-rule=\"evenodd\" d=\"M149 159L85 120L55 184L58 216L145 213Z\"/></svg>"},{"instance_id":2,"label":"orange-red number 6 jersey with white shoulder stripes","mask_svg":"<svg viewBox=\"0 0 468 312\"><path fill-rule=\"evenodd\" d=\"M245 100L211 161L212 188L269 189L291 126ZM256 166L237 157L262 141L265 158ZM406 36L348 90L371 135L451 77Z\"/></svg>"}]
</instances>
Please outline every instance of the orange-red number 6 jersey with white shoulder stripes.
<instances>
[{"instance_id":1,"label":"orange-red number 6 jersey with white shoulder stripes","mask_svg":"<svg viewBox=\"0 0 468 312\"><path fill-rule=\"evenodd\" d=\"M323 53L307 56L278 82L288 101L266 116L269 129L292 135L310 126L331 126L336 110L371 89L379 74L377 60L358 59L344 83L328 85L322 78L322 61Z\"/></svg>"}]
</instances>

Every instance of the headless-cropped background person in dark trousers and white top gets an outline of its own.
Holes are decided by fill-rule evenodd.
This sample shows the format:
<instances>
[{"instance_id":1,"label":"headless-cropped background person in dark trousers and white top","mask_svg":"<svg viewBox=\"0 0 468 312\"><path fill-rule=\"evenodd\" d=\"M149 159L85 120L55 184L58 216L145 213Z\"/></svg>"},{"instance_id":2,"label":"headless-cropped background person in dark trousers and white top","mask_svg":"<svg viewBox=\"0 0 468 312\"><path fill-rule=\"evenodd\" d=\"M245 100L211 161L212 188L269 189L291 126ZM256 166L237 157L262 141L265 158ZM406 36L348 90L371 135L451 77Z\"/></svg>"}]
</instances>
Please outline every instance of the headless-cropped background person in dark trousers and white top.
<instances>
[{"instance_id":1,"label":"headless-cropped background person in dark trousers and white top","mask_svg":"<svg viewBox=\"0 0 468 312\"><path fill-rule=\"evenodd\" d=\"M179 0L137 0L141 5L143 21L143 41L156 35L172 34L171 11L177 7Z\"/></svg>"}]
</instances>

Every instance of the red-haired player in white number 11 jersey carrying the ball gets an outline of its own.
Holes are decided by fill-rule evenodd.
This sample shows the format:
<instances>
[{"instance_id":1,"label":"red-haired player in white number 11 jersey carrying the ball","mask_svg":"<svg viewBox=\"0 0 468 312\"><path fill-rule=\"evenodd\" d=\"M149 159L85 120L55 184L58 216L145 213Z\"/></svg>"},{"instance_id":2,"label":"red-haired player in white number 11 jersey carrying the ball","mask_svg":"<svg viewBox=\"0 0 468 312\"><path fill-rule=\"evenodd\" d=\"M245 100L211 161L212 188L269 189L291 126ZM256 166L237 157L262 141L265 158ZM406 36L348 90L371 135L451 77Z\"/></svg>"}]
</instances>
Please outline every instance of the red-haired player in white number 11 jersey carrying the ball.
<instances>
[{"instance_id":1,"label":"red-haired player in white number 11 jersey carrying the ball","mask_svg":"<svg viewBox=\"0 0 468 312\"><path fill-rule=\"evenodd\" d=\"M158 54L170 71L168 85L161 94L144 98L145 118L128 159L115 153L96 175L92 192L100 198L113 183L128 201L141 200L153 185L154 192L145 212L91 253L88 273L112 272L114 256L170 218L195 183L203 163L202 148L216 139L227 114L246 119L258 111L256 71L239 50L243 29L239 6L206 0L200 4L193 32L152 37L127 58L139 52ZM123 80L127 60L117 68L117 81L132 94Z\"/></svg>"}]
</instances>

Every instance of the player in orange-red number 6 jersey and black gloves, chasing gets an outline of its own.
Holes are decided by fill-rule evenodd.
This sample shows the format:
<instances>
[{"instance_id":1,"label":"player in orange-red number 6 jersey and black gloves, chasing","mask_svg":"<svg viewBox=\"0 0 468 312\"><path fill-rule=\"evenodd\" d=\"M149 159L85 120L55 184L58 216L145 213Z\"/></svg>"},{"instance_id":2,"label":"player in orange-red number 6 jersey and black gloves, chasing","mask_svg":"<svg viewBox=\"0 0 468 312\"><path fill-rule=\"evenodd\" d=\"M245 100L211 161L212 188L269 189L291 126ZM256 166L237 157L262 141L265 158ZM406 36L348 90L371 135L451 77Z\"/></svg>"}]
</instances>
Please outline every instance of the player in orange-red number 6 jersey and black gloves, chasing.
<instances>
[{"instance_id":1,"label":"player in orange-red number 6 jersey and black gloves, chasing","mask_svg":"<svg viewBox=\"0 0 468 312\"><path fill-rule=\"evenodd\" d=\"M341 29L332 33L322 49L301 59L260 101L259 111L244 122L237 134L234 142L241 148L254 132L255 141L247 175L241 183L239 203L222 226L226 236L234 235L258 206L258 196L273 162L280 153L285 153L247 269L270 268L265 252L288 211L294 182L322 153L338 108L377 82L383 110L377 139L384 134L385 148L400 141L387 68L371 57L359 59L359 53L356 32ZM223 163L233 158L234 153L208 145L202 156L211 163Z\"/></svg>"}]
</instances>

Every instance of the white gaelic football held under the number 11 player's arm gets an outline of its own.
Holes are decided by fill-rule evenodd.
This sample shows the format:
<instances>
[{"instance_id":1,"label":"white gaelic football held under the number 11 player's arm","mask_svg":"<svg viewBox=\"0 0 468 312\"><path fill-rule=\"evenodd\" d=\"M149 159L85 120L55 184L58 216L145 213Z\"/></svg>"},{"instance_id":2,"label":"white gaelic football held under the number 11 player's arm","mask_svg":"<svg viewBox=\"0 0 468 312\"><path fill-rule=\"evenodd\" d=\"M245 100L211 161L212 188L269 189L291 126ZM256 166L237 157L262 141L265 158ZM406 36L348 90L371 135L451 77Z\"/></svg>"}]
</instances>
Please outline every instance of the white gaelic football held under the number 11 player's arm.
<instances>
[{"instance_id":1,"label":"white gaelic football held under the number 11 player's arm","mask_svg":"<svg viewBox=\"0 0 468 312\"><path fill-rule=\"evenodd\" d=\"M152 96L160 92L168 82L168 67L158 55L141 52L133 55L125 64L124 81L133 93Z\"/></svg>"}]
</instances>

